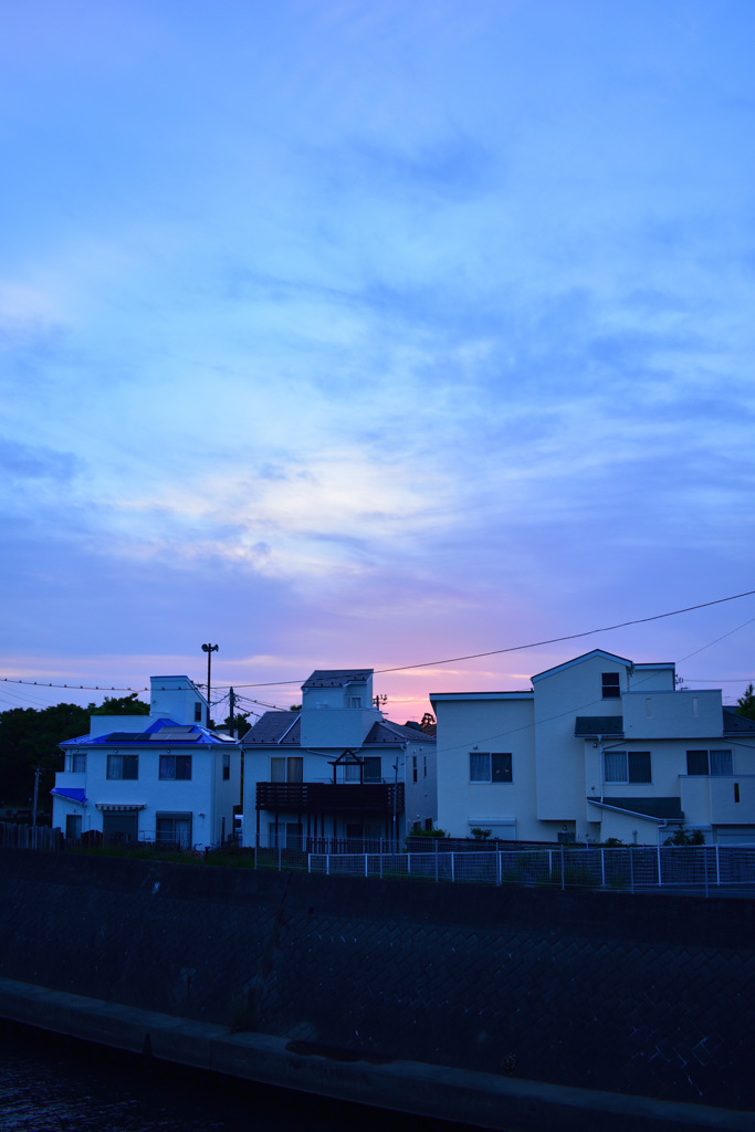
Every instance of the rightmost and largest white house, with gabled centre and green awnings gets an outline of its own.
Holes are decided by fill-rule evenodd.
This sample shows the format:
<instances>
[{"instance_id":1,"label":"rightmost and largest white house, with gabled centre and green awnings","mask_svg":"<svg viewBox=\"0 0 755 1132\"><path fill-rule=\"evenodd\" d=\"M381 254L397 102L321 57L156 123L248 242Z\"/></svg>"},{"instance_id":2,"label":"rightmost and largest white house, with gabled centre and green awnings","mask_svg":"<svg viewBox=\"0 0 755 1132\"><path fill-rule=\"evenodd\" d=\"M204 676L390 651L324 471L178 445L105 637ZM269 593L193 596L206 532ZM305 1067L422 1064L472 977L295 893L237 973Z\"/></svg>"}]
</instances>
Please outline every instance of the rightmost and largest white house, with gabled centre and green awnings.
<instances>
[{"instance_id":1,"label":"rightmost and largest white house, with gabled centre and green awnings","mask_svg":"<svg viewBox=\"0 0 755 1132\"><path fill-rule=\"evenodd\" d=\"M527 692L438 693L438 824L518 841L755 842L755 722L594 650Z\"/></svg>"}]
</instances>

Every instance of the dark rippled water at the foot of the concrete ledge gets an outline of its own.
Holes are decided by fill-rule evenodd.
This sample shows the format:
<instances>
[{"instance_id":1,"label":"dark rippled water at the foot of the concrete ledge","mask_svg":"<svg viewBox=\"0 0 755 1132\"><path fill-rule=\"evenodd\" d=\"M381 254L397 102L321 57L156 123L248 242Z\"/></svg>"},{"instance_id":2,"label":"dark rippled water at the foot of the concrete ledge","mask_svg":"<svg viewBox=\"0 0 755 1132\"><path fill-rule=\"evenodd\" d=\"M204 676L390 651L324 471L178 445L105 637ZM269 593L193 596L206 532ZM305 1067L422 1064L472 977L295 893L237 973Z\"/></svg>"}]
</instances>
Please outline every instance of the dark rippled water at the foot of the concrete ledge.
<instances>
[{"instance_id":1,"label":"dark rippled water at the foot of the concrete ledge","mask_svg":"<svg viewBox=\"0 0 755 1132\"><path fill-rule=\"evenodd\" d=\"M462 1132L0 1023L2 1132Z\"/></svg>"}]
</instances>

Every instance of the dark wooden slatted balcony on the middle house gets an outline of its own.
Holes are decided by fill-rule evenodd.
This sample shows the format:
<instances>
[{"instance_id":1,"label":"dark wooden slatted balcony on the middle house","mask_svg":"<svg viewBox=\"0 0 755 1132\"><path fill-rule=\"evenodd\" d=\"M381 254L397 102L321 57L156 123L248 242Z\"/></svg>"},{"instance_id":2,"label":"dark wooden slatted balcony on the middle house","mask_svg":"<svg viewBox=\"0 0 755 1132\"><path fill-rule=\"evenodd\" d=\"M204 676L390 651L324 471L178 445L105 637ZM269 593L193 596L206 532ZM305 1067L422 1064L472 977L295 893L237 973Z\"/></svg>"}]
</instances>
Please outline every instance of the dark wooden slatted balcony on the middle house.
<instances>
[{"instance_id":1,"label":"dark wooden slatted balcony on the middle house","mask_svg":"<svg viewBox=\"0 0 755 1132\"><path fill-rule=\"evenodd\" d=\"M258 782L257 809L293 814L397 814L403 782Z\"/></svg>"}]
</instances>

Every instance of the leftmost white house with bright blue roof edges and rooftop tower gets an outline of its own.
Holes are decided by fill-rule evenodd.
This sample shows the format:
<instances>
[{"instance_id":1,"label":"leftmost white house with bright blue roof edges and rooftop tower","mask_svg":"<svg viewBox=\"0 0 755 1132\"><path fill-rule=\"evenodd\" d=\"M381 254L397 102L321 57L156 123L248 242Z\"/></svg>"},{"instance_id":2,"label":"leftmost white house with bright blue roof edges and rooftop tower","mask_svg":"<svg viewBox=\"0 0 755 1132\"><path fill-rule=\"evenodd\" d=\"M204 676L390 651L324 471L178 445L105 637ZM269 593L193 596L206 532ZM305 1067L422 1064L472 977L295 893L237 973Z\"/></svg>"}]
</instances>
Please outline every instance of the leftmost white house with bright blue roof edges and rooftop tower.
<instances>
[{"instance_id":1,"label":"leftmost white house with bright blue roof edges and rooftop tower","mask_svg":"<svg viewBox=\"0 0 755 1132\"><path fill-rule=\"evenodd\" d=\"M52 823L66 837L205 848L233 833L238 744L203 726L207 701L187 676L153 676L148 715L92 715L60 746Z\"/></svg>"}]
</instances>

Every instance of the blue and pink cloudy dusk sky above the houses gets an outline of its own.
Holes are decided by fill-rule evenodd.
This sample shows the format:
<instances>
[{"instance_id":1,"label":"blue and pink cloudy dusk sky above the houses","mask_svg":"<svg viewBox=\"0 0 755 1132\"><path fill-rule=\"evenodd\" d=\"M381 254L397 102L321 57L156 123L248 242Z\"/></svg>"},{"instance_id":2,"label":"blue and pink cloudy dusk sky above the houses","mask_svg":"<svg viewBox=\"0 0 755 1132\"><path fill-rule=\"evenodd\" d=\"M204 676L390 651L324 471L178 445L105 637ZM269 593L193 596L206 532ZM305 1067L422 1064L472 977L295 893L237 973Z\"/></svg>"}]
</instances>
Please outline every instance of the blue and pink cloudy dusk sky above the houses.
<instances>
[{"instance_id":1,"label":"blue and pink cloudy dusk sky above the houses","mask_svg":"<svg viewBox=\"0 0 755 1132\"><path fill-rule=\"evenodd\" d=\"M736 701L754 34L0 0L0 677L38 681L0 710L201 681L201 643L255 710L360 666L403 722L593 648Z\"/></svg>"}]
</instances>

